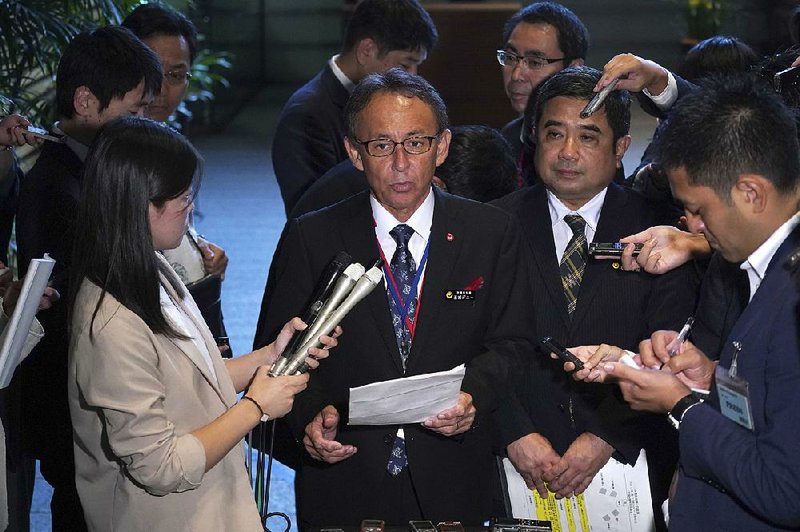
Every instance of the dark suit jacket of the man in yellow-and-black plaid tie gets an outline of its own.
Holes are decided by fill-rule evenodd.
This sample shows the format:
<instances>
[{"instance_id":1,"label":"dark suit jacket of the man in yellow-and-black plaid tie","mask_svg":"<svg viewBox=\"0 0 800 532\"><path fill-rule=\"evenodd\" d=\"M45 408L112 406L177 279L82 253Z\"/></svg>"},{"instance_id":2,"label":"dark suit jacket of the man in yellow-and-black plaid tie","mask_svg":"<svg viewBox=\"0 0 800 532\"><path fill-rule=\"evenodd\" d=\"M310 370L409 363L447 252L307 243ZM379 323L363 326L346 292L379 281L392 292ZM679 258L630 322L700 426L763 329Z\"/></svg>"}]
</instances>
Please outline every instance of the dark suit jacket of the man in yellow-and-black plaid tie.
<instances>
[{"instance_id":1,"label":"dark suit jacket of the man in yellow-and-black plaid tie","mask_svg":"<svg viewBox=\"0 0 800 532\"><path fill-rule=\"evenodd\" d=\"M516 214L527 242L528 278L536 308L535 331L565 346L609 343L633 351L639 341L658 329L677 330L694 308L691 271L679 268L662 276L626 272L609 260L589 260L578 305L570 321L558 260L546 189L537 185L497 201ZM663 223L656 206L637 193L611 184L603 204L595 242L617 242L621 237ZM517 398L501 414L507 445L532 432L547 437L559 454L575 438L591 432L610 443L616 458L633 463L642 445L634 415L614 387L576 383L561 362L537 350L528 358ZM574 426L568 404L572 397Z\"/></svg>"}]
</instances>

